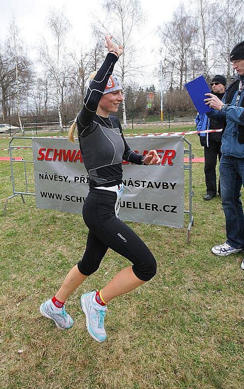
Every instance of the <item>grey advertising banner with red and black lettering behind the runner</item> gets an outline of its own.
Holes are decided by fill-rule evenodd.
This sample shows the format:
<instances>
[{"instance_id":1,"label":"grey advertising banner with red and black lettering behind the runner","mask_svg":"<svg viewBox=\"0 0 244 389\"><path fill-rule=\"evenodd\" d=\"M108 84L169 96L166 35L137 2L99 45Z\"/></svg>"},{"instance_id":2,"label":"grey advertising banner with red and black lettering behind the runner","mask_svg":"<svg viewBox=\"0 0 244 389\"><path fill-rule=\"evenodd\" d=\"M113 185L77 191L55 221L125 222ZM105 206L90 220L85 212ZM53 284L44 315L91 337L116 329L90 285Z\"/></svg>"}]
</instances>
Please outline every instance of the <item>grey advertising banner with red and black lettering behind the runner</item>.
<instances>
[{"instance_id":1,"label":"grey advertising banner with red and black lettering behind the runner","mask_svg":"<svg viewBox=\"0 0 244 389\"><path fill-rule=\"evenodd\" d=\"M119 218L183 227L183 137L128 137L126 141L139 154L157 150L160 165L123 162ZM64 138L33 138L33 161L37 208L82 213L89 185L78 141L73 144Z\"/></svg>"}]
</instances>

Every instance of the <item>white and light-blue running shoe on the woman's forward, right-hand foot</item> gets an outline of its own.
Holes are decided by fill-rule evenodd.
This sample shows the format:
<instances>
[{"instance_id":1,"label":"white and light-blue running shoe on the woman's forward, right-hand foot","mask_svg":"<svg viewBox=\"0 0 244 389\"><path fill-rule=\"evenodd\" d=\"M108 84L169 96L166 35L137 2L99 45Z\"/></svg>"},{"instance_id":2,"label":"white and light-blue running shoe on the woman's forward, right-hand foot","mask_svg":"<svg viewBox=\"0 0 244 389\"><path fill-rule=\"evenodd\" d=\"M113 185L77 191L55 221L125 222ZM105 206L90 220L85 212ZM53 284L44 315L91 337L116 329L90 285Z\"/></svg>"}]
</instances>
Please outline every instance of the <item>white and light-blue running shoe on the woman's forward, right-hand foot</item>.
<instances>
[{"instance_id":1,"label":"white and light-blue running shoe on the woman's forward, right-hand foot","mask_svg":"<svg viewBox=\"0 0 244 389\"><path fill-rule=\"evenodd\" d=\"M80 306L86 315L86 325L89 334L98 342L104 342L107 335L104 329L104 318L106 315L106 306L97 309L93 303L93 297L96 292L85 293L80 297Z\"/></svg>"}]
</instances>

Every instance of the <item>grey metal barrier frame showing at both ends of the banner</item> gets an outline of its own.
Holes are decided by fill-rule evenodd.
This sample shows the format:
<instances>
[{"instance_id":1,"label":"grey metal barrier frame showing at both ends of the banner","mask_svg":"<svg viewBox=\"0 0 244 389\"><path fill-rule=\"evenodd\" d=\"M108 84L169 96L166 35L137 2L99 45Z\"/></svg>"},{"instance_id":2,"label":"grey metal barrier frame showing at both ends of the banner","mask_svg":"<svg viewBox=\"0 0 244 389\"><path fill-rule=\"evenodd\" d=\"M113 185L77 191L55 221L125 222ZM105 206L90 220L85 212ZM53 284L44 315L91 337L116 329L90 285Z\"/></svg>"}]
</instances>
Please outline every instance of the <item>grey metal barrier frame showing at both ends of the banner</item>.
<instances>
[{"instance_id":1,"label":"grey metal barrier frame showing at both ends of the banner","mask_svg":"<svg viewBox=\"0 0 244 389\"><path fill-rule=\"evenodd\" d=\"M7 206L8 206L8 202L9 202L10 199L13 199L14 197L20 195L23 203L25 204L23 195L35 196L35 193L29 192L29 190L28 190L28 177L27 177L27 172L26 172L26 163L33 164L33 160L32 161L25 161L25 160L18 161L18 160L15 160L13 158L13 155L12 155L12 150L13 149L20 148L20 147L23 148L23 149L24 148L25 149L26 148L31 148L32 149L32 146L21 146L21 145L13 146L12 142L14 141L14 139L21 139L21 140L22 139L28 139L28 140L32 140L33 137L13 136L12 139L10 140L10 142L9 142L9 155L10 155L11 180L12 180L12 186L13 186L13 195L6 199L6 203L5 203L5 207L4 207L4 215L7 212ZM189 243L190 242L190 231L191 231L191 227L193 226L192 197L194 196L194 192L192 191L192 161L191 160L194 158L194 155L191 153L191 143L187 139L185 139L184 136L183 136L183 140L188 145L188 148L186 148L186 149L184 148L184 155L187 154L189 156L189 164L188 165L184 165L184 170L189 170L189 210L185 210L184 209L184 213L189 215L189 223L188 223L188 227L187 227L187 237L186 237L186 242ZM13 163L23 163L24 164L25 188L26 188L25 192L18 191L15 188L15 177L14 177L14 165L13 165ZM185 187L185 181L184 181L184 187Z\"/></svg>"}]
</instances>

